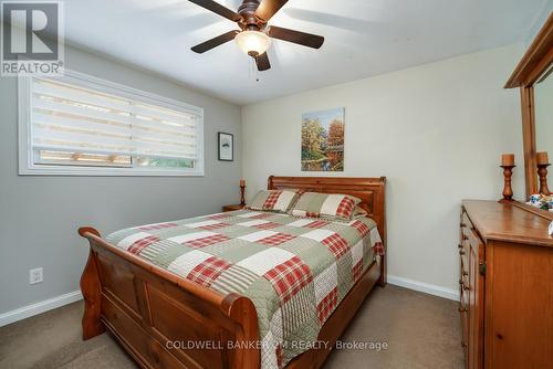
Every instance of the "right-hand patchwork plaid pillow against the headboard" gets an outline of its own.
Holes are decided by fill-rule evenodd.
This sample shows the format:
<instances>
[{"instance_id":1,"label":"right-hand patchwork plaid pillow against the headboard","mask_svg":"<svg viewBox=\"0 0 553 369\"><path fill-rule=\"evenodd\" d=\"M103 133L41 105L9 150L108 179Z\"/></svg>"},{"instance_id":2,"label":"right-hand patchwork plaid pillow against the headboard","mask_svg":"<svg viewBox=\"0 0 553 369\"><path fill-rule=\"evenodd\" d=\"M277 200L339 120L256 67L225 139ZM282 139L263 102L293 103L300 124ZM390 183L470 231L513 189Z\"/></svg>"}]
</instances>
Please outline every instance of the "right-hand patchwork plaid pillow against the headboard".
<instances>
[{"instance_id":1,"label":"right-hand patchwork plaid pillow against the headboard","mask_svg":"<svg viewBox=\"0 0 553 369\"><path fill-rule=\"evenodd\" d=\"M295 217L351 220L359 199L348 194L304 192L290 214Z\"/></svg>"}]
</instances>

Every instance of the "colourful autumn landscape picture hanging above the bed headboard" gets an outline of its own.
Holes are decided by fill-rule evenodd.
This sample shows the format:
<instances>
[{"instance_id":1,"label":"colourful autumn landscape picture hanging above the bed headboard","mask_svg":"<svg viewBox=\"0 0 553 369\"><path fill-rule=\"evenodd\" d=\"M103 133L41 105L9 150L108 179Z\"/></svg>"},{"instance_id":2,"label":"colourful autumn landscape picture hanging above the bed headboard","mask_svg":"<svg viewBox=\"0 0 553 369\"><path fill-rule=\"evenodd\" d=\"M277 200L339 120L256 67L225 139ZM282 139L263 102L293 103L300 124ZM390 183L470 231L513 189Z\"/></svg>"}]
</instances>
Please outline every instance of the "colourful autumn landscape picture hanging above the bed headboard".
<instances>
[{"instance_id":1,"label":"colourful autumn landscape picture hanging above the bed headboard","mask_svg":"<svg viewBox=\"0 0 553 369\"><path fill-rule=\"evenodd\" d=\"M345 108L302 115L302 171L344 171Z\"/></svg>"}]
</instances>

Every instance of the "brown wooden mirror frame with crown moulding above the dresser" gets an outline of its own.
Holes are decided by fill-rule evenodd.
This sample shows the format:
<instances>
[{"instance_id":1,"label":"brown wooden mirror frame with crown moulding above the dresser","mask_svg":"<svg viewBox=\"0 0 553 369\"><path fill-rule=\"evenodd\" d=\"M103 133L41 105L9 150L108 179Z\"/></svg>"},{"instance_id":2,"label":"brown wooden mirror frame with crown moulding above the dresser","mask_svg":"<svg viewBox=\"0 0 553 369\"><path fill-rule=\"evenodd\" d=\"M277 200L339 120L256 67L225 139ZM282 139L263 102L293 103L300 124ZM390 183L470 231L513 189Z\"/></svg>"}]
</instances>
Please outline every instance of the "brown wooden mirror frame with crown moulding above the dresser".
<instances>
[{"instance_id":1,"label":"brown wooden mirror frame with crown moulding above the dresser","mask_svg":"<svg viewBox=\"0 0 553 369\"><path fill-rule=\"evenodd\" d=\"M520 88L522 106L522 140L526 200L538 193L534 85L553 64L553 13L528 49L504 88ZM550 152L553 155L553 152Z\"/></svg>"}]
</instances>

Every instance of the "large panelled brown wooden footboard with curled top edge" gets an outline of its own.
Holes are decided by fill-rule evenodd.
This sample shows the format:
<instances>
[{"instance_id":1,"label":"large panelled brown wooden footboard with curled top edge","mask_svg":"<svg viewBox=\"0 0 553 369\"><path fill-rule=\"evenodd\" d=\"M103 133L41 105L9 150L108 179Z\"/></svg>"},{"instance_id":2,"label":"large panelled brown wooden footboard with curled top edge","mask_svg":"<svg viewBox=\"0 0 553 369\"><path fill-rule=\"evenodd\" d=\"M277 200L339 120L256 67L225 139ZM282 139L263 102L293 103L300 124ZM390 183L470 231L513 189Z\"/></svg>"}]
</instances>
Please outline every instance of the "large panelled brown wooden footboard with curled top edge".
<instances>
[{"instance_id":1,"label":"large panelled brown wooden footboard with curled top edge","mask_svg":"<svg viewBox=\"0 0 553 369\"><path fill-rule=\"evenodd\" d=\"M144 368L259 368L249 298L179 278L108 244L93 228L79 233L91 245L81 278L83 339L107 329Z\"/></svg>"}]
</instances>

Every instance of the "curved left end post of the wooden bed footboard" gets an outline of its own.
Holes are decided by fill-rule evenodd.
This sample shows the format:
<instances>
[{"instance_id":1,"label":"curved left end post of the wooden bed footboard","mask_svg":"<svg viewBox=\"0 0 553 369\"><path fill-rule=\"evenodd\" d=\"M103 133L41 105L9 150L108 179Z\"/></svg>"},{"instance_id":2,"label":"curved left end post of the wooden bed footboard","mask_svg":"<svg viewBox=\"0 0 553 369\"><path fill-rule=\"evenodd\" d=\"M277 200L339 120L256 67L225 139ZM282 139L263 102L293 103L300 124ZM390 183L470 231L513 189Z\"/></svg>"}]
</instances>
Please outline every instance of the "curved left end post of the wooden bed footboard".
<instances>
[{"instance_id":1,"label":"curved left end post of the wooden bed footboard","mask_svg":"<svg viewBox=\"0 0 553 369\"><path fill-rule=\"evenodd\" d=\"M86 233L92 233L100 236L100 232L90 226L79 229L79 234L83 238ZM82 320L83 340L91 339L104 333L105 327L100 319L102 286L100 284L100 274L96 264L96 256L92 250L88 253L88 261L81 276L81 292L84 297L84 315Z\"/></svg>"}]
</instances>

